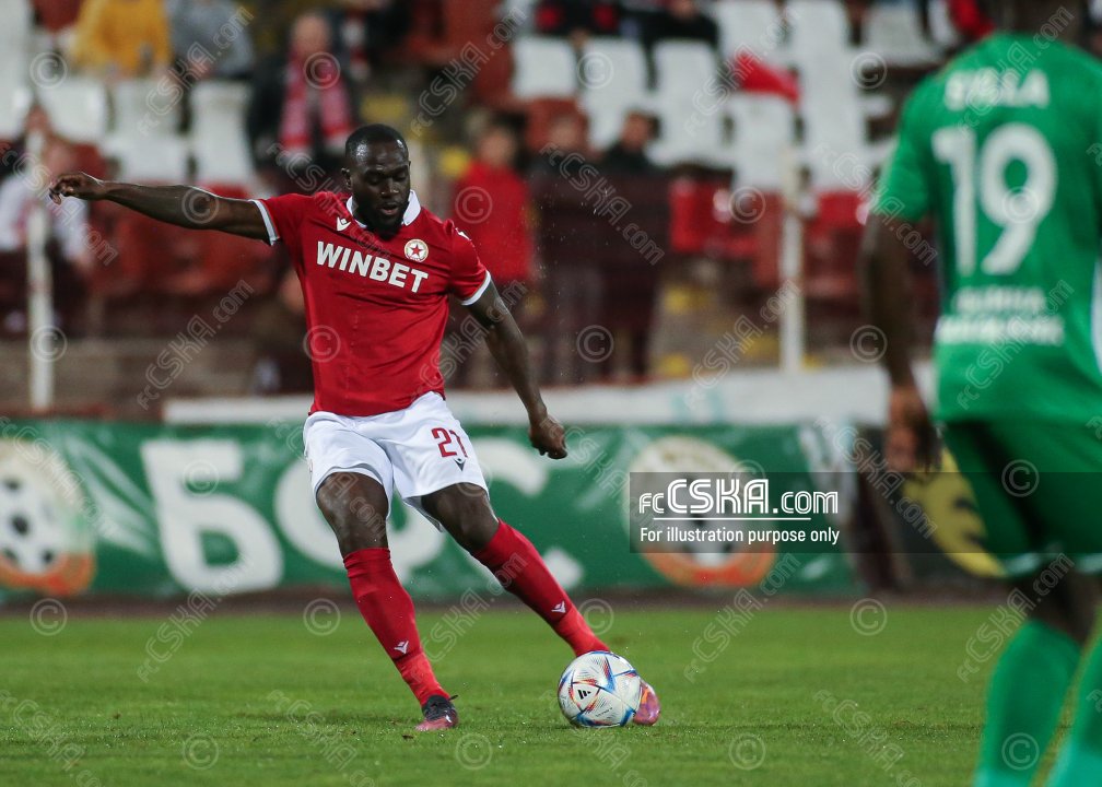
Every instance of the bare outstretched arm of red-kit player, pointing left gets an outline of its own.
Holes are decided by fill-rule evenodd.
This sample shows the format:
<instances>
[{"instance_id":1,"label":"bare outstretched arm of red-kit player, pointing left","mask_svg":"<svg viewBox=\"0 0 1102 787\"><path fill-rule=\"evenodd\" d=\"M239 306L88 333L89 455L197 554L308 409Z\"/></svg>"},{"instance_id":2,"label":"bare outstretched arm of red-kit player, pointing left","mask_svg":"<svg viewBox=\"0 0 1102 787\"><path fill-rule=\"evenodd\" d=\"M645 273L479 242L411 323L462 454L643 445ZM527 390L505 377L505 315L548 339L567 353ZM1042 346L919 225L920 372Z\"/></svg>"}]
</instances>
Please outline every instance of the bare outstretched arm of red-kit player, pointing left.
<instances>
[{"instance_id":1,"label":"bare outstretched arm of red-kit player, pointing left","mask_svg":"<svg viewBox=\"0 0 1102 787\"><path fill-rule=\"evenodd\" d=\"M248 200L229 200L194 186L141 186L100 181L84 172L58 176L50 198L107 200L160 222L188 229L218 229L257 240L268 239L260 208Z\"/></svg>"}]
</instances>

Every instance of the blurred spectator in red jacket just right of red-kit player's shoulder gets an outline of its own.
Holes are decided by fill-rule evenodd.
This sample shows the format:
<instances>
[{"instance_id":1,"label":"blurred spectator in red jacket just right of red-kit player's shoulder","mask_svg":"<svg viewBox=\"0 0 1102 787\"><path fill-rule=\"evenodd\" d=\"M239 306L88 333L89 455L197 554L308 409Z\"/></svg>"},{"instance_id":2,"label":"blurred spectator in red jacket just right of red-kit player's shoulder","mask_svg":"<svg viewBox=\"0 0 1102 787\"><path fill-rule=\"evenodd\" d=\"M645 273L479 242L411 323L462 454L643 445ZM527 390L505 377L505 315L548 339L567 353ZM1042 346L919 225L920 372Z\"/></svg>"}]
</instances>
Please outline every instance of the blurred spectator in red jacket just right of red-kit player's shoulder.
<instances>
[{"instance_id":1,"label":"blurred spectator in red jacket just right of red-kit player's shoulder","mask_svg":"<svg viewBox=\"0 0 1102 787\"><path fill-rule=\"evenodd\" d=\"M474 241L512 316L522 321L526 295L532 287L531 195L515 169L517 148L516 132L504 122L491 122L483 130L475 160L455 182L452 218ZM465 312L456 316L462 321ZM469 338L460 333L450 339L454 341ZM482 347L478 342L479 354ZM466 385L473 364L450 366L455 368L451 381ZM508 384L496 371L495 377L499 385Z\"/></svg>"}]
</instances>

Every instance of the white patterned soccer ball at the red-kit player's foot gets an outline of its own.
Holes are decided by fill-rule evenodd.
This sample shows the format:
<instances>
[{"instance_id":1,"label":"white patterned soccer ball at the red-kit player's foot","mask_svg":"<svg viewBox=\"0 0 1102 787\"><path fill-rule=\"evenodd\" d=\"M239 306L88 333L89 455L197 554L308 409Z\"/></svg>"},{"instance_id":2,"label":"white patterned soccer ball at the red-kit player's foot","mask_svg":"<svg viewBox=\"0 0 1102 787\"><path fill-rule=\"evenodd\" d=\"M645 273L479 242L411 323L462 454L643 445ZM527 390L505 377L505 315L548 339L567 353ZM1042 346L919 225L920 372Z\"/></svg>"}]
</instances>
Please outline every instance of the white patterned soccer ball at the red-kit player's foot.
<instances>
[{"instance_id":1,"label":"white patterned soccer ball at the red-kit player's foot","mask_svg":"<svg viewBox=\"0 0 1102 787\"><path fill-rule=\"evenodd\" d=\"M635 667L607 650L582 654L559 679L559 708L574 726L624 726L641 693Z\"/></svg>"}]
</instances>

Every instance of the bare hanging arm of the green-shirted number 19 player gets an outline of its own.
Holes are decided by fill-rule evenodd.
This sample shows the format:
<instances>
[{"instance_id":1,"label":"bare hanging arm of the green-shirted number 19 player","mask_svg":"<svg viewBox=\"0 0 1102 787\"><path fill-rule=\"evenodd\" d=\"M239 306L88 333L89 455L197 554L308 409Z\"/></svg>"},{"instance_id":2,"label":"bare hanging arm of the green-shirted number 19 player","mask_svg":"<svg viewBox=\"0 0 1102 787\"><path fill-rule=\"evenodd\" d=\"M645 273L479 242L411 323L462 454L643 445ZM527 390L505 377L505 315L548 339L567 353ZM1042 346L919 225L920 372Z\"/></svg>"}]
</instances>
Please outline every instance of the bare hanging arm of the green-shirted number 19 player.
<instances>
[{"instance_id":1,"label":"bare hanging arm of the green-shirted number 19 player","mask_svg":"<svg viewBox=\"0 0 1102 787\"><path fill-rule=\"evenodd\" d=\"M937 464L937 434L915 384L910 365L914 344L910 250L890 226L873 213L861 249L865 314L883 333L882 364L892 381L885 453L888 465L909 473Z\"/></svg>"}]
</instances>

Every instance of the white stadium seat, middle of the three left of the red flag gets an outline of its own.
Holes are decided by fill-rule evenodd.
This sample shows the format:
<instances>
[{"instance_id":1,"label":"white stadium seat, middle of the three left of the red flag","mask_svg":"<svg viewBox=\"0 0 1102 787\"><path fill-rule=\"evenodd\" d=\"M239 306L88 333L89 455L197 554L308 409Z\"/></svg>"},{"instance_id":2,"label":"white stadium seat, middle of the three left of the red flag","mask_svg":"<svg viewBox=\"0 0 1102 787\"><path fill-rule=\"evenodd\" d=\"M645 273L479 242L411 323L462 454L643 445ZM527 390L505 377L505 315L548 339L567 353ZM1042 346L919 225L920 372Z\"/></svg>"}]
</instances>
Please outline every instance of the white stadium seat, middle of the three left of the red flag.
<instances>
[{"instance_id":1,"label":"white stadium seat, middle of the three left of the red flag","mask_svg":"<svg viewBox=\"0 0 1102 787\"><path fill-rule=\"evenodd\" d=\"M591 39L582 52L581 76L590 144L607 148L619 136L628 110L648 106L642 47L622 39Z\"/></svg>"}]
</instances>

